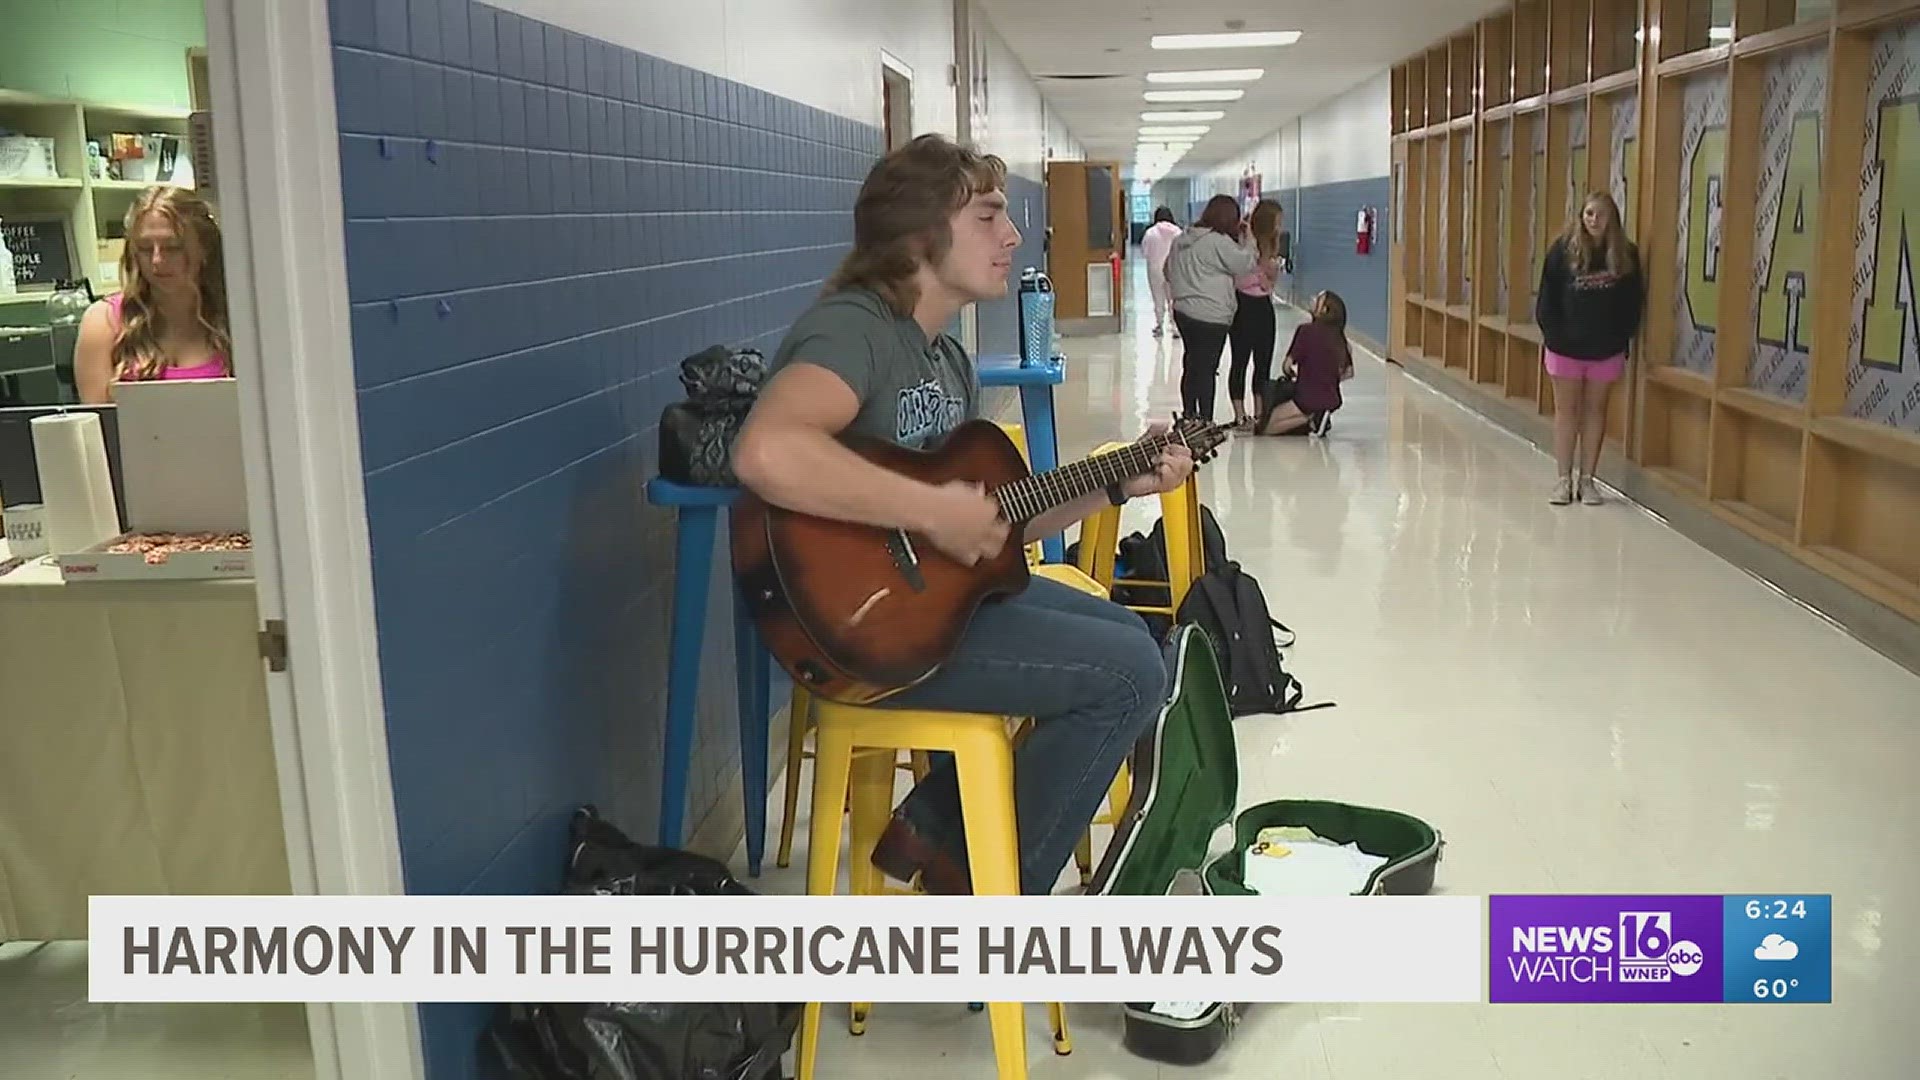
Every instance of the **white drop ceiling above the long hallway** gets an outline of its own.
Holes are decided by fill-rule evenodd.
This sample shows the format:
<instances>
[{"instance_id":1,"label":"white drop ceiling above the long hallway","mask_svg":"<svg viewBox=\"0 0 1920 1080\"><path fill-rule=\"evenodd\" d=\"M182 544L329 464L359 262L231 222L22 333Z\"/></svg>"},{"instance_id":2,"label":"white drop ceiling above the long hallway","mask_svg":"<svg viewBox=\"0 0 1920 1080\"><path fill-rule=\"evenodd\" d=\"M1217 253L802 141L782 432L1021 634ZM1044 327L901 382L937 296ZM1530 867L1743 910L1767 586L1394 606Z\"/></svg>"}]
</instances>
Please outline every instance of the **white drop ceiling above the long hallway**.
<instances>
[{"instance_id":1,"label":"white drop ceiling above the long hallway","mask_svg":"<svg viewBox=\"0 0 1920 1080\"><path fill-rule=\"evenodd\" d=\"M1144 111L1223 111L1167 175L1204 173L1503 0L981 0L1089 158L1129 175ZM1300 31L1265 48L1156 50L1154 35ZM1150 71L1260 67L1250 83L1148 83ZM1244 88L1236 102L1148 102L1148 90Z\"/></svg>"}]
</instances>

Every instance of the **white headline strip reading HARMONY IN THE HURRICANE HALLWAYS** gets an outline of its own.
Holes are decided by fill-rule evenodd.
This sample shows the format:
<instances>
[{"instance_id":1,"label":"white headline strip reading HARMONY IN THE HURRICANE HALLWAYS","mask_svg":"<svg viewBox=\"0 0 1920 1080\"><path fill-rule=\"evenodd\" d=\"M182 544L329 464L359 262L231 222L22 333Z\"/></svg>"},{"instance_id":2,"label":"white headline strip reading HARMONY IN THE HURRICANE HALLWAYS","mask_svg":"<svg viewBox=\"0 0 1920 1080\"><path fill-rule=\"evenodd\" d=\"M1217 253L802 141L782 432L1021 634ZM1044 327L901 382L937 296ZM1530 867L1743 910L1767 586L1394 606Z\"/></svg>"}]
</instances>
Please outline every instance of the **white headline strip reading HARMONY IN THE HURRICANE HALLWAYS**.
<instances>
[{"instance_id":1,"label":"white headline strip reading HARMONY IN THE HURRICANE HALLWAYS","mask_svg":"<svg viewBox=\"0 0 1920 1080\"><path fill-rule=\"evenodd\" d=\"M1480 1001L1476 897L108 897L92 1001Z\"/></svg>"}]
</instances>

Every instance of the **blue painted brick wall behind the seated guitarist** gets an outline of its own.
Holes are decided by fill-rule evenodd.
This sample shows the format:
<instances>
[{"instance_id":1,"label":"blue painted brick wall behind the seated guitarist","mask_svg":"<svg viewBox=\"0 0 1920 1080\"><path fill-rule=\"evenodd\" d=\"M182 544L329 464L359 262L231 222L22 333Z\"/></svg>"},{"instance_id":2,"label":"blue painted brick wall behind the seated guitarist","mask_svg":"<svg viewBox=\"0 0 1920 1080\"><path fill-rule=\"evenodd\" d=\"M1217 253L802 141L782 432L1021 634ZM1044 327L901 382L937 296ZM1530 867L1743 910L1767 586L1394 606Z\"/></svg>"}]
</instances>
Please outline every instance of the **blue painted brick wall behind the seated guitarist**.
<instances>
[{"instance_id":1,"label":"blue painted brick wall behind the seated guitarist","mask_svg":"<svg viewBox=\"0 0 1920 1080\"><path fill-rule=\"evenodd\" d=\"M557 886L572 807L657 828L678 363L772 354L879 133L470 0L330 0L390 765L409 892ZM739 767L710 586L687 821ZM476 1074L486 1007L424 1007Z\"/></svg>"}]
</instances>

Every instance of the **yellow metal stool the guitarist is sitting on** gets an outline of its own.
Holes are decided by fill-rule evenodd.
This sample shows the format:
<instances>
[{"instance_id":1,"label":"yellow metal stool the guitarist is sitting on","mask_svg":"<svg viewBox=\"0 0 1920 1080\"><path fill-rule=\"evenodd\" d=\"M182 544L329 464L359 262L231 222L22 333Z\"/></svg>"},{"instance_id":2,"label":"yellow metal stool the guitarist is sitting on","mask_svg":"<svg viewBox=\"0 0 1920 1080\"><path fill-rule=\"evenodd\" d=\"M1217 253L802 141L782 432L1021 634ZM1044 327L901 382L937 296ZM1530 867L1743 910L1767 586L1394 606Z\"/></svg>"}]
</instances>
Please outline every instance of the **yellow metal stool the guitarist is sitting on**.
<instances>
[{"instance_id":1,"label":"yellow metal stool the guitarist is sitting on","mask_svg":"<svg viewBox=\"0 0 1920 1080\"><path fill-rule=\"evenodd\" d=\"M849 878L856 896L879 894L883 874L870 855L893 815L893 780L900 749L947 751L960 774L968 867L975 896L1020 894L1020 832L1014 822L1014 736L1006 717L870 709L814 701L814 809L806 849L808 896L833 896L839 878L841 807L851 811ZM852 1005L849 1028L866 1030L866 1003ZM797 1080L814 1080L820 1057L818 1001L801 1017ZM1071 1053L1066 1009L1048 1005L1054 1051ZM1025 1007L987 1003L1000 1080L1025 1080Z\"/></svg>"}]
</instances>

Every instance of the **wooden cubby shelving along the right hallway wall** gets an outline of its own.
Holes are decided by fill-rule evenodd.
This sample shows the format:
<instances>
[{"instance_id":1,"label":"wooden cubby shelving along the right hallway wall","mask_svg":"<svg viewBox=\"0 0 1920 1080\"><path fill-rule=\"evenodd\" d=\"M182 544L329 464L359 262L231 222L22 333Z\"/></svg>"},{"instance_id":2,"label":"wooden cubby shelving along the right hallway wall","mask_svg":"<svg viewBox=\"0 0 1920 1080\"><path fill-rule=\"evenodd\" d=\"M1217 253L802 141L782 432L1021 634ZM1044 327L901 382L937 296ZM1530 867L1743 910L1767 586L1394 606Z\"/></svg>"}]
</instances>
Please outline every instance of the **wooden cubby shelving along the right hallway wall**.
<instances>
[{"instance_id":1,"label":"wooden cubby shelving along the right hallway wall","mask_svg":"<svg viewBox=\"0 0 1920 1080\"><path fill-rule=\"evenodd\" d=\"M1549 419L1534 292L1588 192L1647 311L1609 442L1920 621L1920 0L1517 0L1392 73L1390 352Z\"/></svg>"}]
</instances>

